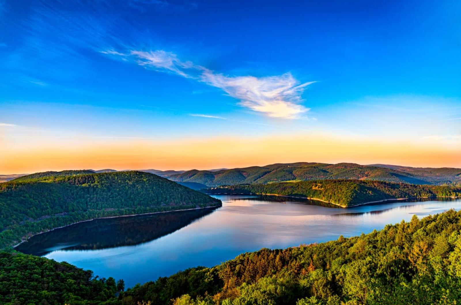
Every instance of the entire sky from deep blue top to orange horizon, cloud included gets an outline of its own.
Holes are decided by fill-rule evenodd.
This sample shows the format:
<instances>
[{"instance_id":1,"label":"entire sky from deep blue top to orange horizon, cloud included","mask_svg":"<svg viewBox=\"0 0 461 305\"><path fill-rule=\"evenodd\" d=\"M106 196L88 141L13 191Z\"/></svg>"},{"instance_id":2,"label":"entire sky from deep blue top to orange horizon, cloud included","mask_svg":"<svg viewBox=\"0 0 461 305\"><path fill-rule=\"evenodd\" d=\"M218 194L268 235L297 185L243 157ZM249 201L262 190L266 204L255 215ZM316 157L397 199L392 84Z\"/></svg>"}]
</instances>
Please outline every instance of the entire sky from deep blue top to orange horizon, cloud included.
<instances>
[{"instance_id":1,"label":"entire sky from deep blue top to orange horizon, cloud included","mask_svg":"<svg viewBox=\"0 0 461 305\"><path fill-rule=\"evenodd\" d=\"M0 174L461 167L460 12L456 0L0 0Z\"/></svg>"}]
</instances>

